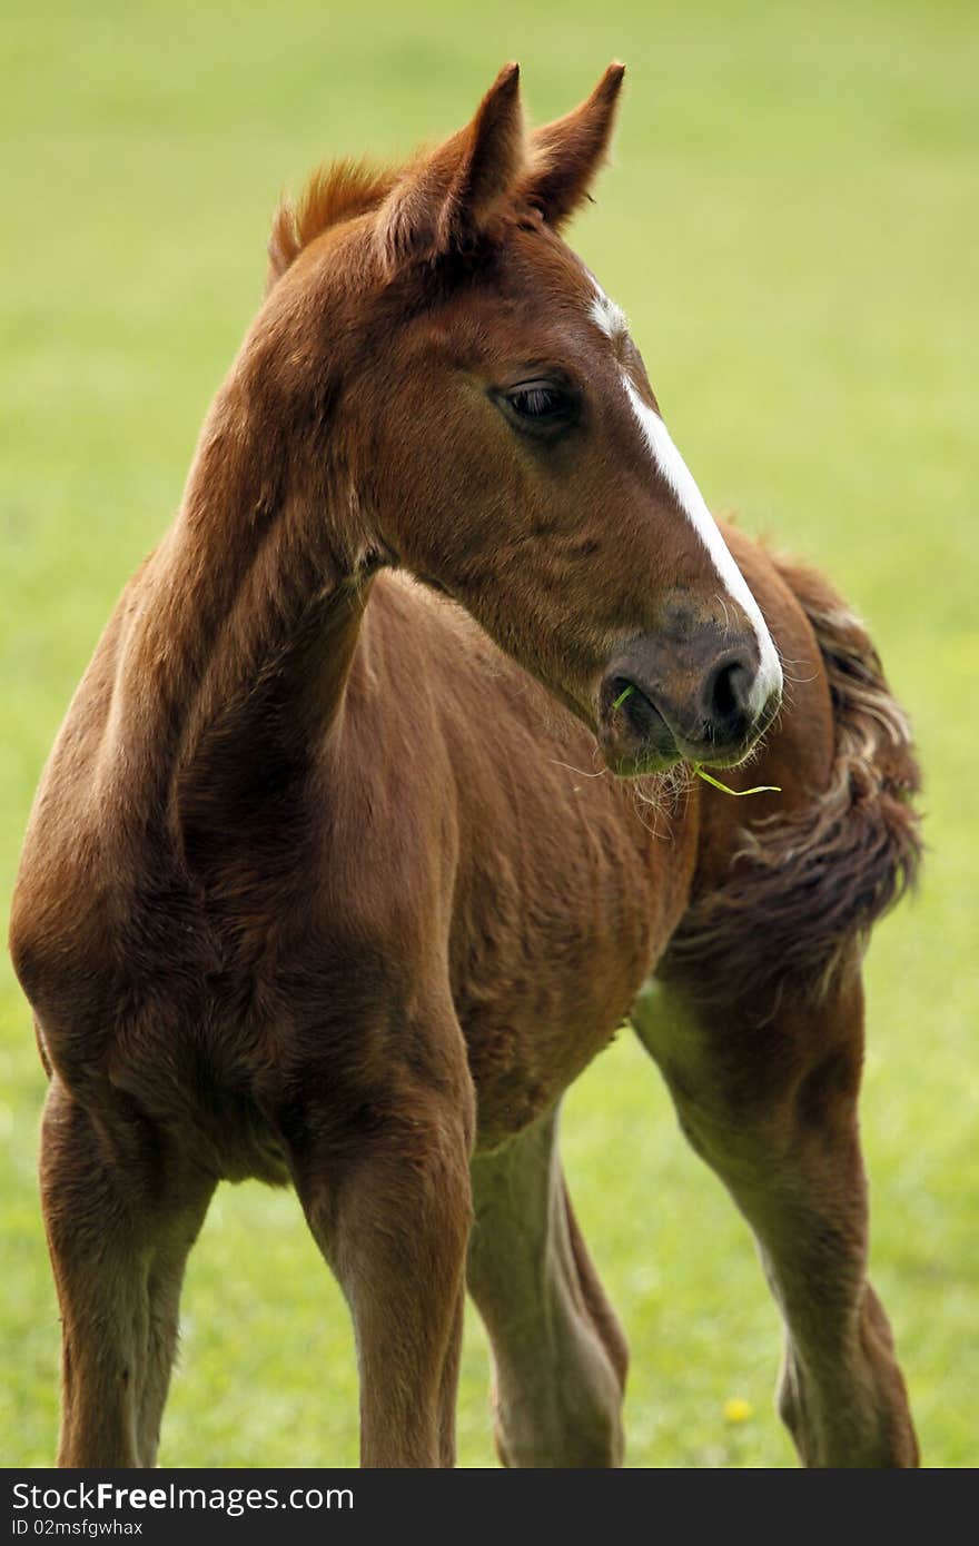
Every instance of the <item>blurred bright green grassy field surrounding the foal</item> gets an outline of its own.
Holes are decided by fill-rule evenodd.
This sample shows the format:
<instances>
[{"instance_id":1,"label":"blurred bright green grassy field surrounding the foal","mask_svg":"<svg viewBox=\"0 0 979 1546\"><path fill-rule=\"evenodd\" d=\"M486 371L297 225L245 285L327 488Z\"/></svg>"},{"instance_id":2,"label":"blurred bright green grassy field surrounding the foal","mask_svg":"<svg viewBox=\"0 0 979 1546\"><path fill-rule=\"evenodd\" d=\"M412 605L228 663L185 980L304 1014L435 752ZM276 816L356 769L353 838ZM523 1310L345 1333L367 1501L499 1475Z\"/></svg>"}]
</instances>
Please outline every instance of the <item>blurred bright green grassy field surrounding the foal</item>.
<instances>
[{"instance_id":1,"label":"blurred bright green grassy field surrounding the foal","mask_svg":"<svg viewBox=\"0 0 979 1546\"><path fill-rule=\"evenodd\" d=\"M976 1464L976 6L40 0L5 19L3 48L3 898L67 700L260 297L280 187L453 130L509 57L537 117L628 62L616 165L575 244L707 498L829 569L919 734L926 873L868 966L872 1260L925 1463ZM6 960L0 1076L0 1463L46 1466L43 1079ZM626 1037L572 1091L565 1147L631 1337L628 1463L793 1464L749 1232ZM752 1407L736 1425L732 1396ZM475 1316L459 1436L462 1464L492 1463ZM354 1458L340 1296L291 1197L226 1187L190 1265L161 1459Z\"/></svg>"}]
</instances>

